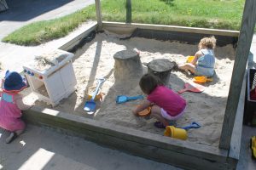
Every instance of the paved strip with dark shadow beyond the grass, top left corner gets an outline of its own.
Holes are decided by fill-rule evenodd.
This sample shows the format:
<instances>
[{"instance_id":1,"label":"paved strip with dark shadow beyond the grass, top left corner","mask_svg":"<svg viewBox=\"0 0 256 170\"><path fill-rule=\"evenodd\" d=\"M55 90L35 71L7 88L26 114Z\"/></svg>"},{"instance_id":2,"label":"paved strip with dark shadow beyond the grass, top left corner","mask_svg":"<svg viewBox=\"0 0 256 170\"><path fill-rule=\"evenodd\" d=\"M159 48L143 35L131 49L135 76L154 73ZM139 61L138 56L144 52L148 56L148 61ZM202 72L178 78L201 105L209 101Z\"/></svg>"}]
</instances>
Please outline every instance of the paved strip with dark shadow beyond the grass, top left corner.
<instances>
[{"instance_id":1,"label":"paved strip with dark shadow beyond the grass, top left corner","mask_svg":"<svg viewBox=\"0 0 256 170\"><path fill-rule=\"evenodd\" d=\"M93 4L94 0L6 0L9 9L0 13L0 39L39 20L51 20Z\"/></svg>"}]
</instances>

